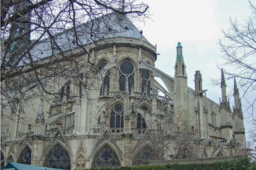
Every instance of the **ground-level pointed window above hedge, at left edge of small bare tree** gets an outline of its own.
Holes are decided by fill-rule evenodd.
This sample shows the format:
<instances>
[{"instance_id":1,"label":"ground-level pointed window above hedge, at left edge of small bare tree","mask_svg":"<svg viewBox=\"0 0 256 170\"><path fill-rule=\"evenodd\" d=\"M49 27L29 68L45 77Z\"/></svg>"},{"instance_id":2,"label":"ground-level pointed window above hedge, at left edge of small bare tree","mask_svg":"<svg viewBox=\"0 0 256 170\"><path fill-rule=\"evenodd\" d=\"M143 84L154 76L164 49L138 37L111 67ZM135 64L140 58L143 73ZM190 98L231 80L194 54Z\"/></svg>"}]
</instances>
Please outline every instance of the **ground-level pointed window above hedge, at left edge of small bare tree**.
<instances>
[{"instance_id":1,"label":"ground-level pointed window above hedge, at left edge of small bare tree","mask_svg":"<svg viewBox=\"0 0 256 170\"><path fill-rule=\"evenodd\" d=\"M134 160L132 161L132 165L134 166L147 165L150 162L152 162L152 160L156 160L156 153L149 146L145 146L134 157Z\"/></svg>"}]
</instances>

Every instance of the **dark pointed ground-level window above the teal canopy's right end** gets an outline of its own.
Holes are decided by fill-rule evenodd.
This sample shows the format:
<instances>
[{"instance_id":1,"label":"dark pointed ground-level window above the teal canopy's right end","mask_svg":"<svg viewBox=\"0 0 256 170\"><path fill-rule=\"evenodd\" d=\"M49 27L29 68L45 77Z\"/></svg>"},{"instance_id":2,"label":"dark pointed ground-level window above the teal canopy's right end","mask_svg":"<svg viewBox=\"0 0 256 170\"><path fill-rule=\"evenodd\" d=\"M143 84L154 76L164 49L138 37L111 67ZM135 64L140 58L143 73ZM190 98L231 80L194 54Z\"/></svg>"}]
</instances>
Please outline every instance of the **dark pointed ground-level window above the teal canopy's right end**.
<instances>
[{"instance_id":1,"label":"dark pointed ground-level window above the teal canopy's right end","mask_svg":"<svg viewBox=\"0 0 256 170\"><path fill-rule=\"evenodd\" d=\"M44 166L70 169L70 158L65 148L59 144L54 146L45 158Z\"/></svg>"}]
</instances>

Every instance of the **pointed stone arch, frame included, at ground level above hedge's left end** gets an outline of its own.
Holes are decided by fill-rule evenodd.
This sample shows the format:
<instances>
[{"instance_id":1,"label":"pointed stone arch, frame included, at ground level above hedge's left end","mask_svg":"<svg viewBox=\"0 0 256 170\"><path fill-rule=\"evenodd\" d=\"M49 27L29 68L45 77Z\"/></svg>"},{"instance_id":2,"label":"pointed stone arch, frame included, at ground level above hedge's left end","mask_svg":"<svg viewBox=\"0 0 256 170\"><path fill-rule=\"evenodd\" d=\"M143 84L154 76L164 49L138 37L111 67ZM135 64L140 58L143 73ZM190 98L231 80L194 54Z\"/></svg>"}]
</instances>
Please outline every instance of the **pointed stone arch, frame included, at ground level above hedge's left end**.
<instances>
[{"instance_id":1,"label":"pointed stone arch, frame included, at ground level above hedge's left end","mask_svg":"<svg viewBox=\"0 0 256 170\"><path fill-rule=\"evenodd\" d=\"M105 141L93 151L91 167L121 166L118 150L111 143Z\"/></svg>"}]
</instances>

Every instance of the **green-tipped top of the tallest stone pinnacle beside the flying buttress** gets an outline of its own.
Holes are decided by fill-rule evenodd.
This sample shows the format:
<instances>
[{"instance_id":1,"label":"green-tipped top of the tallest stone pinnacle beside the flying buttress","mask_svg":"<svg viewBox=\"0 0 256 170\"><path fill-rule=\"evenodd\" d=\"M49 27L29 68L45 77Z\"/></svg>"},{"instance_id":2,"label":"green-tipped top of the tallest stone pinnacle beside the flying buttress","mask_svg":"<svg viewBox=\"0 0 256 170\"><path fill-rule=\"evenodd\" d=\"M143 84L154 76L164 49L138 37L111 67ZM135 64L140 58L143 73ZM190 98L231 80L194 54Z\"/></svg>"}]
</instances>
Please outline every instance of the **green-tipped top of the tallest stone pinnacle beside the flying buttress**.
<instances>
[{"instance_id":1,"label":"green-tipped top of the tallest stone pinnacle beside the flying buttress","mask_svg":"<svg viewBox=\"0 0 256 170\"><path fill-rule=\"evenodd\" d=\"M178 45L176 47L177 49L177 55L176 55L176 63L175 63L175 77L177 76L187 76L186 74L186 66L183 59L182 54L182 46L181 43L178 42Z\"/></svg>"}]
</instances>

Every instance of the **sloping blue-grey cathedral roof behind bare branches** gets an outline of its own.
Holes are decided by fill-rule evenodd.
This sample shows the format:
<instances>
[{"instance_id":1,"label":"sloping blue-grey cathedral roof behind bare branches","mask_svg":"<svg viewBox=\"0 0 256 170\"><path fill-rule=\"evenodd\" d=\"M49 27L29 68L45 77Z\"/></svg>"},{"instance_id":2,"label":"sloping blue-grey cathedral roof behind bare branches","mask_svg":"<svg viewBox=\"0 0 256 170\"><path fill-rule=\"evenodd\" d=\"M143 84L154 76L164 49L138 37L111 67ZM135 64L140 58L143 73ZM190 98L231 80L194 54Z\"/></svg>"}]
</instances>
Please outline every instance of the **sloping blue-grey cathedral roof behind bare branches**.
<instances>
[{"instance_id":1,"label":"sloping blue-grey cathedral roof behind bare branches","mask_svg":"<svg viewBox=\"0 0 256 170\"><path fill-rule=\"evenodd\" d=\"M53 53L65 52L79 45L87 45L100 39L115 37L140 39L141 33L127 16L109 13L77 25L75 28L60 32L54 36L54 40L46 38L39 41L32 48L31 55L34 60L39 60L49 57ZM148 43L144 36L142 36L142 40Z\"/></svg>"}]
</instances>

